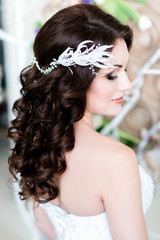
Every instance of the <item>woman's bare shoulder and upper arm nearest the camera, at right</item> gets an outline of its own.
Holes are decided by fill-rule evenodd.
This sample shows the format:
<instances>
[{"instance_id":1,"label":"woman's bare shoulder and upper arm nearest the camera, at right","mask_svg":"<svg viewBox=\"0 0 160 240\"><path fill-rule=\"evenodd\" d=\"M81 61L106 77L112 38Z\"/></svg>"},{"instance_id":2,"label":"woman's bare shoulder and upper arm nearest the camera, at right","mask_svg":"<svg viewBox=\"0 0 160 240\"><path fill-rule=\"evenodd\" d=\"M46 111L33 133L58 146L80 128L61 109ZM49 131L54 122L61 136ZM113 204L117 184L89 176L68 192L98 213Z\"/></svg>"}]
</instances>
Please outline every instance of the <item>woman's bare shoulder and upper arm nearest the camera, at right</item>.
<instances>
[{"instance_id":1,"label":"woman's bare shoulder and upper arm nearest the camera, at right","mask_svg":"<svg viewBox=\"0 0 160 240\"><path fill-rule=\"evenodd\" d=\"M115 140L101 141L96 179L113 239L147 240L136 154Z\"/></svg>"}]
</instances>

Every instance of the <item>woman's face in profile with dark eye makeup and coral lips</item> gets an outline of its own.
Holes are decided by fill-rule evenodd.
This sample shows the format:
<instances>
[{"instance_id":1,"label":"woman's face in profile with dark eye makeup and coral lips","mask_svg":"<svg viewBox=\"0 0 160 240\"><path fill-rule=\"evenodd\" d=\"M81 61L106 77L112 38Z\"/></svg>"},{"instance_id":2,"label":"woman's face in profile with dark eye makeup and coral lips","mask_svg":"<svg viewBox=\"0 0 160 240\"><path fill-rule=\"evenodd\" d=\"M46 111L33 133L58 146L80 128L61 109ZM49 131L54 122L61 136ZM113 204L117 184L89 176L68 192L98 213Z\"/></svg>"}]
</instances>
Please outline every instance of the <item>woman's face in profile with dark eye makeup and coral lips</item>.
<instances>
[{"instance_id":1,"label":"woman's face in profile with dark eye makeup and coral lips","mask_svg":"<svg viewBox=\"0 0 160 240\"><path fill-rule=\"evenodd\" d=\"M118 114L125 92L131 89L126 74L129 53L123 39L116 42L112 55L116 58L111 60L115 68L101 69L93 80L87 93L86 112L108 116Z\"/></svg>"}]
</instances>

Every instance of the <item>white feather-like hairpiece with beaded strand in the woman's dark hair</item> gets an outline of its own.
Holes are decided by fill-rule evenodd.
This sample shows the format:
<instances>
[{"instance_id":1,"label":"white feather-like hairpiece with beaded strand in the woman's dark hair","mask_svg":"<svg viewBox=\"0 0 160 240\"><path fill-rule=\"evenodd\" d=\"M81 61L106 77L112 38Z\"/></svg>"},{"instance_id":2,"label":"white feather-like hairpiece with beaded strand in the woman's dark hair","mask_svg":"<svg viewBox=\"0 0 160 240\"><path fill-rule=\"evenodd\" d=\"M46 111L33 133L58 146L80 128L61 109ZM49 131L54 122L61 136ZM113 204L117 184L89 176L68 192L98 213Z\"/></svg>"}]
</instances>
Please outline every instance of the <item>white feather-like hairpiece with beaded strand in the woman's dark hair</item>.
<instances>
[{"instance_id":1,"label":"white feather-like hairpiece with beaded strand in the woman's dark hair","mask_svg":"<svg viewBox=\"0 0 160 240\"><path fill-rule=\"evenodd\" d=\"M49 64L50 67L43 69L39 66L36 57L33 58L31 67L36 65L38 70L41 73L48 74L57 66L63 65L66 67L80 65L80 66L90 66L89 69L92 70L93 74L96 74L94 66L98 68L114 68L114 65L109 63L111 58L115 58L111 52L106 51L108 48L112 48L113 45L98 45L93 44L91 47L87 47L87 43L91 43L91 40L85 40L81 42L76 51L74 52L72 48L68 47L56 60L53 58L53 61ZM70 68L69 68L70 69ZM72 72L72 70L70 69ZM73 73L73 72L72 72Z\"/></svg>"}]
</instances>

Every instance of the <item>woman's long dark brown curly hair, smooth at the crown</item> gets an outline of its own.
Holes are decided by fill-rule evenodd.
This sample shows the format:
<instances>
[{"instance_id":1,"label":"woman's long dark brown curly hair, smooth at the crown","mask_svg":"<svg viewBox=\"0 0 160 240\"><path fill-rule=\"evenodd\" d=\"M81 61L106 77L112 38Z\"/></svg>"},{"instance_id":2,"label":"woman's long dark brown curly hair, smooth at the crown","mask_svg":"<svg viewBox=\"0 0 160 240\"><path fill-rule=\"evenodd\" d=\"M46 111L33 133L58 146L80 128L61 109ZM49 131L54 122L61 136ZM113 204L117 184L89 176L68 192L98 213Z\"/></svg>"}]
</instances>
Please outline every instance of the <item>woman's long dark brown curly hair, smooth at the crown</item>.
<instances>
[{"instance_id":1,"label":"woman's long dark brown curly hair, smooth at the crown","mask_svg":"<svg viewBox=\"0 0 160 240\"><path fill-rule=\"evenodd\" d=\"M67 47L76 49L87 39L97 45L124 39L130 49L132 30L94 5L78 4L62 9L43 25L34 54L46 68ZM44 75L28 66L20 74L22 96L13 105L16 118L8 137L15 143L9 170L19 180L22 200L47 202L59 195L59 176L67 167L64 153L74 148L73 123L84 115L86 93L95 77L89 67L71 69L73 74L59 65Z\"/></svg>"}]
</instances>

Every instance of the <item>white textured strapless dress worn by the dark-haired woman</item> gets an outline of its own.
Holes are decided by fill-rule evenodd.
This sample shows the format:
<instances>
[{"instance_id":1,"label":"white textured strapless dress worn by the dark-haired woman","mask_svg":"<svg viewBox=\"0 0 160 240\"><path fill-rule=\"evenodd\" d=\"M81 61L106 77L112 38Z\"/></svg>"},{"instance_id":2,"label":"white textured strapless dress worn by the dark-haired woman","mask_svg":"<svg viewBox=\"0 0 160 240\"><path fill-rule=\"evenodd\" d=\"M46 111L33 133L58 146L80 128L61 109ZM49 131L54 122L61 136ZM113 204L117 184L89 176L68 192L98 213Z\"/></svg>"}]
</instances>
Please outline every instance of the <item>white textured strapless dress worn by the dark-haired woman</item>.
<instances>
[{"instance_id":1,"label":"white textured strapless dress worn by the dark-haired woman","mask_svg":"<svg viewBox=\"0 0 160 240\"><path fill-rule=\"evenodd\" d=\"M139 165L139 172L145 214L152 202L154 185L141 165ZM51 203L40 204L40 206L46 211L55 227L58 236L56 240L112 240L106 212L84 217L68 214Z\"/></svg>"}]
</instances>

